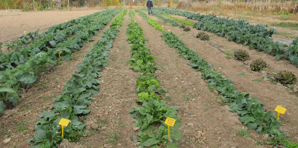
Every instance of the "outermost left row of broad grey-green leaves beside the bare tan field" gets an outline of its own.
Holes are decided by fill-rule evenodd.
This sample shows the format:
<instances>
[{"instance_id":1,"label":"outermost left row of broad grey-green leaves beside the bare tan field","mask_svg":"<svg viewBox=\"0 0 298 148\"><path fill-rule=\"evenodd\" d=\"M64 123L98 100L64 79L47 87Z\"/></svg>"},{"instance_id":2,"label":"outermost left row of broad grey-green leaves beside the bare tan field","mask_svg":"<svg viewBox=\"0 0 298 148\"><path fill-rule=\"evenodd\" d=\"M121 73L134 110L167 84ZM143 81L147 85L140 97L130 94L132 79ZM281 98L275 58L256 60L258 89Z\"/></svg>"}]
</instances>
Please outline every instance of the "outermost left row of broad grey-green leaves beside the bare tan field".
<instances>
[{"instance_id":1,"label":"outermost left row of broad grey-green leaves beside the bare tan field","mask_svg":"<svg viewBox=\"0 0 298 148\"><path fill-rule=\"evenodd\" d=\"M23 35L21 40L15 40L5 44L5 46L8 46L8 50L13 51L7 54L3 52L0 53L0 70L5 71L6 68L14 69L18 65L23 65L29 61L31 56L35 56L40 52L48 52L51 49L61 48L63 47L61 45L63 45L65 41L71 39L71 35L78 34L85 28L100 28L101 24L98 24L95 20L101 19L102 24L107 24L110 17L109 14L114 11L115 9L80 17L77 20L71 20L65 24L56 25L56 27L52 27L41 34L37 34L38 31L35 33L28 33ZM24 44L28 44L28 46L25 46ZM70 44L69 46L72 45ZM62 58L62 60L69 59L69 56Z\"/></svg>"}]
</instances>

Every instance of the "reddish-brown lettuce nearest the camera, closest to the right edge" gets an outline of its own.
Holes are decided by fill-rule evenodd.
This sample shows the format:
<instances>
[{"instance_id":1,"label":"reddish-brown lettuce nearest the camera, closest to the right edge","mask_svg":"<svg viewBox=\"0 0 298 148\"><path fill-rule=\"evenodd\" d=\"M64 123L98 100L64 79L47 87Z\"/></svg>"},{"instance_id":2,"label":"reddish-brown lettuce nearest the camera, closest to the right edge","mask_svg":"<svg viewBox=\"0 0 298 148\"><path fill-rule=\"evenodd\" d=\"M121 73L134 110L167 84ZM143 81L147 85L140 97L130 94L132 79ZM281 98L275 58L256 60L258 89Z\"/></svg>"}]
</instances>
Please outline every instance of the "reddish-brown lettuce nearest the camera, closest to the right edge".
<instances>
[{"instance_id":1,"label":"reddish-brown lettuce nearest the camera, closest to the right edge","mask_svg":"<svg viewBox=\"0 0 298 148\"><path fill-rule=\"evenodd\" d=\"M284 84L295 84L296 83L296 76L290 71L280 71L279 73L274 75L274 78L279 83Z\"/></svg>"}]
</instances>

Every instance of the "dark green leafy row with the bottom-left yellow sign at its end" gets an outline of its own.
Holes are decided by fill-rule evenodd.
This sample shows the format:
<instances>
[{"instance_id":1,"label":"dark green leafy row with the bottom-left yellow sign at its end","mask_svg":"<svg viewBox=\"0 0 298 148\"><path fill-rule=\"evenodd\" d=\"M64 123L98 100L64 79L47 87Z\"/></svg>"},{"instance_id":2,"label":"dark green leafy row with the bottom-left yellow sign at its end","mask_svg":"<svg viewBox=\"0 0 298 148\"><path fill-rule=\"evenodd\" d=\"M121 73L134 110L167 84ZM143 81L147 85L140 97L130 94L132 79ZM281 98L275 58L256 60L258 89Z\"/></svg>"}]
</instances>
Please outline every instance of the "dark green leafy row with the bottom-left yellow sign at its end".
<instances>
[{"instance_id":1,"label":"dark green leafy row with the bottom-left yellow sign at its end","mask_svg":"<svg viewBox=\"0 0 298 148\"><path fill-rule=\"evenodd\" d=\"M110 25L110 28L102 34L102 38L92 46L92 50L86 53L82 64L78 64L76 73L66 83L62 95L57 96L52 107L53 112L43 112L35 125L35 136L27 140L37 144L33 147L57 147L63 140L61 126L58 124L61 118L70 120L70 124L64 127L64 138L69 142L77 142L80 137L86 136L83 129L86 124L79 120L91 110L87 106L91 104L92 95L99 93L98 80L100 72L108 66L109 51L113 46L119 27L122 26L126 9L121 12ZM119 12L119 11L118 11ZM81 118L82 119L82 118Z\"/></svg>"}]
</instances>

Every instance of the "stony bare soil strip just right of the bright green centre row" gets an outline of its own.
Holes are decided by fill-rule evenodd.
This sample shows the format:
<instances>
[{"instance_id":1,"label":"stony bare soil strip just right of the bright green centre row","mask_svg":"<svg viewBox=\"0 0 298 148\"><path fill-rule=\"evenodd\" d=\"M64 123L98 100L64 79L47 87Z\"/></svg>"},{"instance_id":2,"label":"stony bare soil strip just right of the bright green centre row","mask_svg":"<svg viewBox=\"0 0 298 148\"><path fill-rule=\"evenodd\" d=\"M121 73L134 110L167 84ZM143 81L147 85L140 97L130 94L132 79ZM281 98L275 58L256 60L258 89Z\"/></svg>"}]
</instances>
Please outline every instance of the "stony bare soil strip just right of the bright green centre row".
<instances>
[{"instance_id":1,"label":"stony bare soil strip just right of the bright green centre row","mask_svg":"<svg viewBox=\"0 0 298 148\"><path fill-rule=\"evenodd\" d=\"M183 132L180 147L256 147L250 137L236 136L243 126L237 115L229 112L228 106L221 105L217 95L210 92L200 78L200 73L193 71L188 61L176 54L176 49L166 45L160 37L161 32L137 14L135 20L148 40L147 47L157 57L157 66L162 68L156 72L157 79L161 81L160 86L169 90L163 98L169 106L181 107L178 111L182 122L179 129Z\"/></svg>"}]
</instances>

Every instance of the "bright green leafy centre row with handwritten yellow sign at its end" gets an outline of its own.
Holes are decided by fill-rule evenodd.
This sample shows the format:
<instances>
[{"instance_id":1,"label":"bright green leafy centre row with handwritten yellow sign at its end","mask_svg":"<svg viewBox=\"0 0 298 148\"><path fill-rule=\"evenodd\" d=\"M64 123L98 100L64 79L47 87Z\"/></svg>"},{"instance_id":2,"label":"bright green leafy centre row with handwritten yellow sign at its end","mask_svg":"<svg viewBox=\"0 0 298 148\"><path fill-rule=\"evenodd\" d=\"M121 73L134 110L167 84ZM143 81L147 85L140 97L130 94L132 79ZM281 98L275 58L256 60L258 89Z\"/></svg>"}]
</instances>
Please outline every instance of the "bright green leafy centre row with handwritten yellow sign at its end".
<instances>
[{"instance_id":1,"label":"bright green leafy centre row with handwritten yellow sign at its end","mask_svg":"<svg viewBox=\"0 0 298 148\"><path fill-rule=\"evenodd\" d=\"M129 16L134 16L132 10L129 12ZM144 45L146 39L144 38L143 30L133 17L131 17L131 23L128 25L126 33L128 43L132 44L132 58L127 64L132 65L131 69L135 72L140 72L141 75L137 81L139 99L136 100L141 106L133 106L133 110L129 111L132 114L131 117L137 119L133 128L139 129L139 138L134 137L133 139L138 141L138 146L141 147L178 147L178 141L182 139L182 133L178 130L181 121L177 116L177 110L180 107L169 107L166 101L161 99L160 95L167 90L160 88L159 80L154 75L154 72L159 70L160 67L154 66L156 63L153 60L156 57ZM166 117L176 120L175 125L170 130L170 139L168 138L167 126L164 123ZM156 126L159 126L159 128L156 128Z\"/></svg>"}]
</instances>

